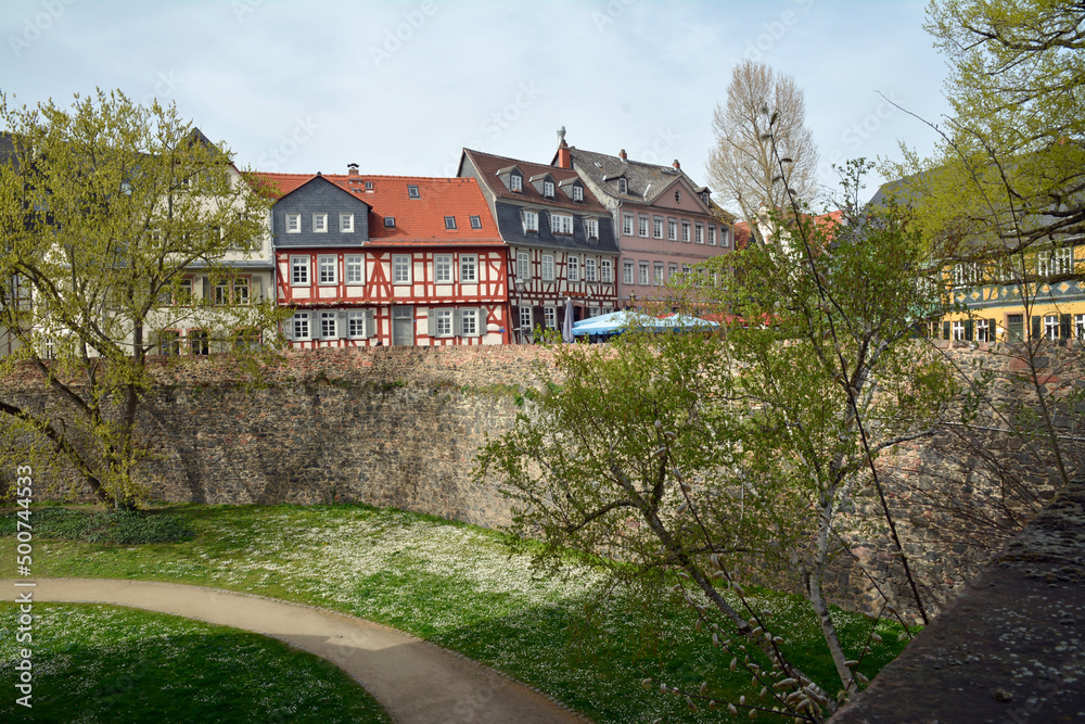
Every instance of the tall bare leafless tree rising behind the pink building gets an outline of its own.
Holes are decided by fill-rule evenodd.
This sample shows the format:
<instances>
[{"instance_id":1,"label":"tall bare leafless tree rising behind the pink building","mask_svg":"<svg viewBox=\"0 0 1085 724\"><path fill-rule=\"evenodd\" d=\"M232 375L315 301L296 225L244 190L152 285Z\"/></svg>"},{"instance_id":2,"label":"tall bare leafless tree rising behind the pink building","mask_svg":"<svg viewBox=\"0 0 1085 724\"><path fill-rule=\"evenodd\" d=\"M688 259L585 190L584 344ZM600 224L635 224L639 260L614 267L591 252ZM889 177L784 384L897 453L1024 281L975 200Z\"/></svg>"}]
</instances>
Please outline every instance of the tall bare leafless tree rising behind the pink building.
<instances>
[{"instance_id":1,"label":"tall bare leafless tree rising behind the pink building","mask_svg":"<svg viewBox=\"0 0 1085 724\"><path fill-rule=\"evenodd\" d=\"M767 113L766 113L767 111ZM783 164L783 180L773 156L773 137ZM788 206L787 189L802 201L814 198L817 145L806 127L806 102L794 78L764 63L745 61L731 72L727 102L712 117L716 145L709 155L709 182L725 204L750 224L751 233L765 241L768 223L762 211Z\"/></svg>"}]
</instances>

